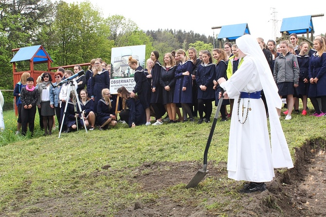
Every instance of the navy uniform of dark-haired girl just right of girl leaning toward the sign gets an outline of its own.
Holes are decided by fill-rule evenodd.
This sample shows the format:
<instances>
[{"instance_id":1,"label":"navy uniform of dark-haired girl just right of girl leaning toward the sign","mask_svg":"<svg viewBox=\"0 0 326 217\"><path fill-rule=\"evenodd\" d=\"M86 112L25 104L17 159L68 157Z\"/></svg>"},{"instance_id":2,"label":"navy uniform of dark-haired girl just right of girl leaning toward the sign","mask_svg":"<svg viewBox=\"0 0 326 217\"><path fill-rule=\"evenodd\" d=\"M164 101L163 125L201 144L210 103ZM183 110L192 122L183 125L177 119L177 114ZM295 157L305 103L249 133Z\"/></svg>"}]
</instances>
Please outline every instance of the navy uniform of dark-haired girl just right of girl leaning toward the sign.
<instances>
[{"instance_id":1,"label":"navy uniform of dark-haired girl just right of girl leaning toward the sign","mask_svg":"<svg viewBox=\"0 0 326 217\"><path fill-rule=\"evenodd\" d=\"M154 68L151 71L152 74L152 88L155 88L155 92L151 93L150 103L162 103L162 87L160 85L160 72L161 63L156 62Z\"/></svg>"}]
</instances>

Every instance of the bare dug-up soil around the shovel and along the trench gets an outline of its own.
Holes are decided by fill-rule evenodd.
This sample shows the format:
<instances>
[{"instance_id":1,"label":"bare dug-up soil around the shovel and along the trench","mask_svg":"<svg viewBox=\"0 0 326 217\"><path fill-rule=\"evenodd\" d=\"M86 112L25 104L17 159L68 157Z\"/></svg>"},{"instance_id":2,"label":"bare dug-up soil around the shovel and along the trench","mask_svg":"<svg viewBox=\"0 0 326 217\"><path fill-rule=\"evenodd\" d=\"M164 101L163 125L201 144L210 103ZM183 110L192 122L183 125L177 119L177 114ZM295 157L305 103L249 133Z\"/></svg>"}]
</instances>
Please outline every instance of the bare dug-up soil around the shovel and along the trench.
<instances>
[{"instance_id":1,"label":"bare dug-up soil around the shovel and along the trench","mask_svg":"<svg viewBox=\"0 0 326 217\"><path fill-rule=\"evenodd\" d=\"M116 217L316 217L326 216L324 200L326 198L326 153L323 149L325 141L316 140L307 142L296 150L294 168L275 173L275 179L266 183L267 191L240 195L235 199L227 192L242 188L241 182L223 181L227 177L226 163L209 162L209 173L205 179L222 181L221 185L209 186L212 194L201 191L205 188L205 180L199 187L190 190L191 199L183 201L171 197L164 197L164 191L178 186L184 188L189 178L193 177L202 166L199 163L144 163L138 167L130 182L141 184L142 191L161 191L162 197L148 201L141 206L129 207L121 210ZM215 165L215 166L213 166ZM181 186L182 185L182 186ZM179 189L180 190L180 189ZM232 191L230 191L232 190ZM184 191L189 191L184 189ZM184 193L184 192L183 192ZM222 199L219 193L223 193ZM207 198L206 205L194 206L203 197ZM230 203L231 200L231 203ZM232 204L241 202L241 209L234 210ZM223 203L228 201L228 203ZM208 205L207 205L208 204ZM207 209L210 205L221 204L216 209ZM227 204L223 206L223 204ZM216 205L217 206L217 205ZM219 210L220 212L215 212Z\"/></svg>"}]
</instances>

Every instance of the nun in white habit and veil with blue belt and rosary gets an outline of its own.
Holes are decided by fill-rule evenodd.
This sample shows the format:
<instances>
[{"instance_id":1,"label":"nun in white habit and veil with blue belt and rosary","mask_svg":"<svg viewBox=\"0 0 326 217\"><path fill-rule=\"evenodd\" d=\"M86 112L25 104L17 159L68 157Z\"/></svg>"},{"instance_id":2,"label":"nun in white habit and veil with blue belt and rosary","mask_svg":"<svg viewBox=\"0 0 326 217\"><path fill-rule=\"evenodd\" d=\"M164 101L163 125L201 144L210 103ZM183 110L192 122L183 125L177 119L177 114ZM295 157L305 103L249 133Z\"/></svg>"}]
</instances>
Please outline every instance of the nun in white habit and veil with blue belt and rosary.
<instances>
[{"instance_id":1,"label":"nun in white habit and veil with blue belt and rosary","mask_svg":"<svg viewBox=\"0 0 326 217\"><path fill-rule=\"evenodd\" d=\"M272 77L271 69L257 40L251 35L236 39L241 67L226 81L217 82L226 91L226 98L235 99L231 118L228 151L228 177L236 181L250 181L240 191L251 193L266 190L266 181L272 181L274 168L292 168L282 126L276 111L282 101ZM269 136L264 103L260 96L264 90L270 119Z\"/></svg>"}]
</instances>

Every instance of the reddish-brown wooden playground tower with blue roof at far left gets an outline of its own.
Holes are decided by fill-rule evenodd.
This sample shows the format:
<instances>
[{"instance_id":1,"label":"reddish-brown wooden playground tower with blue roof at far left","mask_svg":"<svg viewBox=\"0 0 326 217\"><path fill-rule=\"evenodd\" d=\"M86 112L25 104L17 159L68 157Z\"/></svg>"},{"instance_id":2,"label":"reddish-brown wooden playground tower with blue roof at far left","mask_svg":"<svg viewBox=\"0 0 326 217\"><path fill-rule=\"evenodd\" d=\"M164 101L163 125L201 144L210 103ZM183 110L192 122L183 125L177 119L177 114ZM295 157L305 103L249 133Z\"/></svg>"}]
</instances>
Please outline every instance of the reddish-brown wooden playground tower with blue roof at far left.
<instances>
[{"instance_id":1,"label":"reddish-brown wooden playground tower with blue roof at far left","mask_svg":"<svg viewBox=\"0 0 326 217\"><path fill-rule=\"evenodd\" d=\"M74 65L67 65L67 66L58 66L58 67L51 67L51 63L53 63L53 60L51 59L50 55L46 52L46 50L43 48L42 45L35 45L30 47L24 47L24 48L17 48L11 50L12 52L17 52L14 54L14 57L10 60L11 63L13 63L13 75L14 75L14 87L15 85L20 81L20 77L23 72L29 72L31 74L31 77L34 78L34 85L36 85L36 79L39 75L41 75L44 72L49 72L52 76L52 80L54 81L54 73L58 68L64 68L69 69L75 66L88 66L90 63L81 63L81 64L74 64ZM27 71L21 71L17 72L17 62L20 61L29 61L30 68ZM47 63L47 70L46 71L37 71L34 69L34 66L36 64L41 63ZM55 72L51 72L55 70ZM18 115L17 106L15 104L15 114Z\"/></svg>"}]
</instances>

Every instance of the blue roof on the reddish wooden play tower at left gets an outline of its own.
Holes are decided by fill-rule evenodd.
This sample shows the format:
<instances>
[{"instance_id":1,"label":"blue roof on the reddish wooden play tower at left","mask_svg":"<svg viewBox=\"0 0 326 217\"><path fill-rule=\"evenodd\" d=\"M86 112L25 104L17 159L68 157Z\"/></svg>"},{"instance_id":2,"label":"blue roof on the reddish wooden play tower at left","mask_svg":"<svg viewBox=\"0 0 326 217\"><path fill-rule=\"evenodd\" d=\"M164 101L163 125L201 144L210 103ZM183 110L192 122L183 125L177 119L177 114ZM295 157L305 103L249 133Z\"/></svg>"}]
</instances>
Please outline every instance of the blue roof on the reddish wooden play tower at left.
<instances>
[{"instance_id":1,"label":"blue roof on the reddish wooden play tower at left","mask_svg":"<svg viewBox=\"0 0 326 217\"><path fill-rule=\"evenodd\" d=\"M34 63L47 62L51 59L50 55L45 51L42 45L20 48L10 62L18 62L23 60L33 60Z\"/></svg>"}]
</instances>

